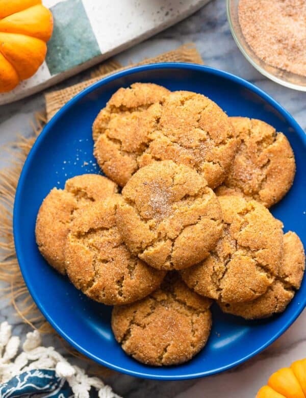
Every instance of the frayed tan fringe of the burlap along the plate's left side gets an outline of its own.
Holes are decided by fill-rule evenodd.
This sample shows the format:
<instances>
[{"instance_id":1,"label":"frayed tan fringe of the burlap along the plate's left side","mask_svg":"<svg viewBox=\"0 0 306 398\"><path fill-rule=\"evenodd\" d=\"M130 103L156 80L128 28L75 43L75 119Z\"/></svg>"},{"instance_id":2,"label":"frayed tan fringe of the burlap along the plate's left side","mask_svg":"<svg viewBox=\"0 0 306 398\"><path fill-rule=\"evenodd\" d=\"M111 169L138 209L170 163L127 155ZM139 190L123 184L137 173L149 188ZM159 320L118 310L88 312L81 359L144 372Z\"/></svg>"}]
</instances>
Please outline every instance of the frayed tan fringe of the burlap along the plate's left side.
<instances>
[{"instance_id":1,"label":"frayed tan fringe of the burlap along the plate's left side","mask_svg":"<svg viewBox=\"0 0 306 398\"><path fill-rule=\"evenodd\" d=\"M16 187L24 161L46 123L44 113L37 113L35 119L32 137L20 136L10 147L3 148L4 151L12 154L14 160L8 167L0 171L0 280L6 284L1 289L2 299L9 300L16 311L16 316L19 316L26 324L40 333L55 334L67 353L86 360L90 364L89 375L107 377L116 372L104 366L99 366L74 350L45 320L24 283L16 258L13 237L13 207Z\"/></svg>"}]
</instances>

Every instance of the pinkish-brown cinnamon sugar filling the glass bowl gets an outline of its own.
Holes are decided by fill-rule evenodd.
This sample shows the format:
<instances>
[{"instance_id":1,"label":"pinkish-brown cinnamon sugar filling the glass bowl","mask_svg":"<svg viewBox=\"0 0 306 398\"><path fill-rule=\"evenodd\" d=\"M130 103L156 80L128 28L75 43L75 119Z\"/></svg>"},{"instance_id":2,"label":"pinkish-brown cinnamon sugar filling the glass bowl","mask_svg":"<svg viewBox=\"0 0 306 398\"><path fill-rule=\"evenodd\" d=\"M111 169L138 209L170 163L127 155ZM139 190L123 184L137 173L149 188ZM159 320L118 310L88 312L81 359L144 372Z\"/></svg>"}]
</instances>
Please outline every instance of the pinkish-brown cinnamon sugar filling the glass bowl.
<instances>
[{"instance_id":1,"label":"pinkish-brown cinnamon sugar filling the glass bowl","mask_svg":"<svg viewBox=\"0 0 306 398\"><path fill-rule=\"evenodd\" d=\"M259 58L306 76L305 0L240 0L238 16L245 40Z\"/></svg>"}]
</instances>

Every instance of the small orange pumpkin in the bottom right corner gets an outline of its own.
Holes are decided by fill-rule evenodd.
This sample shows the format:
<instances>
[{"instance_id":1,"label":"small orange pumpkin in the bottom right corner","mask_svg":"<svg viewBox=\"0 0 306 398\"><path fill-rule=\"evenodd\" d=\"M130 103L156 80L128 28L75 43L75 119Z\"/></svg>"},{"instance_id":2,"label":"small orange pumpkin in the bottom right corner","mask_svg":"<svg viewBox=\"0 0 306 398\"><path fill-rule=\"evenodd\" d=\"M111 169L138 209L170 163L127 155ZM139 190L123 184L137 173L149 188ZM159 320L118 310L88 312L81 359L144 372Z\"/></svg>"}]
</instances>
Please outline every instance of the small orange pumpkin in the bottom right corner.
<instances>
[{"instance_id":1,"label":"small orange pumpkin in the bottom right corner","mask_svg":"<svg viewBox=\"0 0 306 398\"><path fill-rule=\"evenodd\" d=\"M256 398L306 398L306 358L273 373Z\"/></svg>"}]
</instances>

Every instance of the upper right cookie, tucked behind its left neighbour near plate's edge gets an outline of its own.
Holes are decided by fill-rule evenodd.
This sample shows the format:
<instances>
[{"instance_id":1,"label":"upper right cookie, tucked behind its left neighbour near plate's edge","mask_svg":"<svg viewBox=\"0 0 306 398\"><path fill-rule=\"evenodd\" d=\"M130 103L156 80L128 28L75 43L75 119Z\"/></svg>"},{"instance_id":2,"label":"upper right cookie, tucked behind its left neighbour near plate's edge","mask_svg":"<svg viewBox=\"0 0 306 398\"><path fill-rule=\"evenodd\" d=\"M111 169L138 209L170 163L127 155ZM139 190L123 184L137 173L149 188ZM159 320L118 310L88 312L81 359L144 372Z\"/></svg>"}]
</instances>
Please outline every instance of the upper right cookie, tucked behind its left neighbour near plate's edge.
<instances>
[{"instance_id":1,"label":"upper right cookie, tucked behind its left neighbour near plate's edge","mask_svg":"<svg viewBox=\"0 0 306 398\"><path fill-rule=\"evenodd\" d=\"M258 119L230 118L239 147L230 172L217 195L238 194L270 207L289 191L294 175L292 148L283 133Z\"/></svg>"}]
</instances>

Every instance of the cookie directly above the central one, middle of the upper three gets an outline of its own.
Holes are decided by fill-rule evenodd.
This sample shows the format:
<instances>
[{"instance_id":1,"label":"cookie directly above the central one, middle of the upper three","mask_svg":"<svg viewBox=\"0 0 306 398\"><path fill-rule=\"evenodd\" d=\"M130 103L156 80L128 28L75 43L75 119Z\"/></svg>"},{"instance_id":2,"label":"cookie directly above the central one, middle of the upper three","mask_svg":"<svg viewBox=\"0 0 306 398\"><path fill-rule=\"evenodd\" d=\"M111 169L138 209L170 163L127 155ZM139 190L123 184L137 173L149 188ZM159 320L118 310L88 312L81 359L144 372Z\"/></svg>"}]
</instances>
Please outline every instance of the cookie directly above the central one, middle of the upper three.
<instances>
[{"instance_id":1,"label":"cookie directly above the central one, middle of the upper three","mask_svg":"<svg viewBox=\"0 0 306 398\"><path fill-rule=\"evenodd\" d=\"M232 123L217 104L202 94L175 91L166 97L158 127L138 162L140 167L167 159L185 164L215 188L226 177L236 147Z\"/></svg>"}]
</instances>

